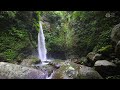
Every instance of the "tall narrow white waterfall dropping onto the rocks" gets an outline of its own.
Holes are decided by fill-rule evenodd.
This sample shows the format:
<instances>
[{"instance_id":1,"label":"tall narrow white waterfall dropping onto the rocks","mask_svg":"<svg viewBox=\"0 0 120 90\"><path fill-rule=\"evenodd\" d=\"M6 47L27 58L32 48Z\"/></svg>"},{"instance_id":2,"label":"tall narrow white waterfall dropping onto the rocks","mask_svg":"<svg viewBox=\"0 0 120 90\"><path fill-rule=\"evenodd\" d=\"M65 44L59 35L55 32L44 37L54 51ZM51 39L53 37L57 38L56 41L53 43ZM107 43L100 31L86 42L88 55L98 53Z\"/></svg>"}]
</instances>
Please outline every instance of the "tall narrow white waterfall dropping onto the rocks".
<instances>
[{"instance_id":1,"label":"tall narrow white waterfall dropping onto the rocks","mask_svg":"<svg viewBox=\"0 0 120 90\"><path fill-rule=\"evenodd\" d=\"M46 61L47 50L45 46L45 37L44 37L43 29L42 29L42 23L39 22L39 24L40 24L40 30L38 33L38 58L41 61Z\"/></svg>"}]
</instances>

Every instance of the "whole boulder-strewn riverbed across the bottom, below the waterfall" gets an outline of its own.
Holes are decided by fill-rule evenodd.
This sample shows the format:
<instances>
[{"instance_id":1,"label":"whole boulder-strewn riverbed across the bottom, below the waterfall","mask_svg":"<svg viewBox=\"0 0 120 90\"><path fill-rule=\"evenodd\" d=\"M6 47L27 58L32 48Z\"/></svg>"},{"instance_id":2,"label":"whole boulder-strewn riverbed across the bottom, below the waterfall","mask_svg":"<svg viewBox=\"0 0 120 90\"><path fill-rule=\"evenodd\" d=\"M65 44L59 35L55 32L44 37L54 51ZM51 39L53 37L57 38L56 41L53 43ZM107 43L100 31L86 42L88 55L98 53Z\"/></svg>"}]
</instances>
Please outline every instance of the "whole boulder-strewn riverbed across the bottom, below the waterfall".
<instances>
[{"instance_id":1,"label":"whole boulder-strewn riverbed across the bottom, below the waterfall","mask_svg":"<svg viewBox=\"0 0 120 90\"><path fill-rule=\"evenodd\" d=\"M119 65L113 61L96 59L98 53L92 55L93 58L89 55L74 60L52 60L44 65L23 64L24 61L20 65L0 62L0 79L110 79L114 76L118 77Z\"/></svg>"}]
</instances>

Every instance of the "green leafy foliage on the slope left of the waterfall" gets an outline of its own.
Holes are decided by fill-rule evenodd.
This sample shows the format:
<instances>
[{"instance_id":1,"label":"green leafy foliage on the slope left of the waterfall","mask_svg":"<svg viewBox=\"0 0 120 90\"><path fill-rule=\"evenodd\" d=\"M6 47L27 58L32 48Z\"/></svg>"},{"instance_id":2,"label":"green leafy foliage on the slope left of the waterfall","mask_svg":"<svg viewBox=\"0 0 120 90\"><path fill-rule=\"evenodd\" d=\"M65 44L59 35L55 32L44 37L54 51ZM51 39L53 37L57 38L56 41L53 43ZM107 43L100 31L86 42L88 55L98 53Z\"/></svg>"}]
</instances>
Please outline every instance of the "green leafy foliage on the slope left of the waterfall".
<instances>
[{"instance_id":1,"label":"green leafy foliage on the slope left of the waterfall","mask_svg":"<svg viewBox=\"0 0 120 90\"><path fill-rule=\"evenodd\" d=\"M32 54L37 42L39 11L0 12L0 59L19 61Z\"/></svg>"}]
</instances>

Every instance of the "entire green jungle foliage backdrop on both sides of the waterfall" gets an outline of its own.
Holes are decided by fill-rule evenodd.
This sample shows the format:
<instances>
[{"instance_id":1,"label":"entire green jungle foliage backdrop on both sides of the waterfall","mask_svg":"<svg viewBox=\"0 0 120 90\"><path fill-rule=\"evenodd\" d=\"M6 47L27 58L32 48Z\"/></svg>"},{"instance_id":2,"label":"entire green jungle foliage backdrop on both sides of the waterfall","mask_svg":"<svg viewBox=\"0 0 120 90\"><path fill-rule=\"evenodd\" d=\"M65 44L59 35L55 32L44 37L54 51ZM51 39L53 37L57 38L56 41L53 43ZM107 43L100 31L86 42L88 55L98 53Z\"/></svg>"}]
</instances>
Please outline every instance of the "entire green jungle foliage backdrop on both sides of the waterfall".
<instances>
[{"instance_id":1,"label":"entire green jungle foliage backdrop on both sides of the waterfall","mask_svg":"<svg viewBox=\"0 0 120 90\"><path fill-rule=\"evenodd\" d=\"M81 57L102 47L107 52L119 15L118 11L0 11L0 58L20 60L32 54L37 48L39 21L48 53Z\"/></svg>"}]
</instances>

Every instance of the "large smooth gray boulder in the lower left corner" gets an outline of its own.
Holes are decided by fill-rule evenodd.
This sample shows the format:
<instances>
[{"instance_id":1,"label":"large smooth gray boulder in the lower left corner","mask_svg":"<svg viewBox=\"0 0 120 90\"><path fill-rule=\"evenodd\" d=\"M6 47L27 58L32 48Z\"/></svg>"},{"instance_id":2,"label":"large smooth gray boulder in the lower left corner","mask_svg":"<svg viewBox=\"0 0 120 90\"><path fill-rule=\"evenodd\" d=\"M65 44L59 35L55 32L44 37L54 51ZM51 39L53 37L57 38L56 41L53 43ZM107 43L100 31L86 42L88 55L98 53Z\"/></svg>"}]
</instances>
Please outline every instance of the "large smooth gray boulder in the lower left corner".
<instances>
[{"instance_id":1,"label":"large smooth gray boulder in the lower left corner","mask_svg":"<svg viewBox=\"0 0 120 90\"><path fill-rule=\"evenodd\" d=\"M45 79L46 75L40 71L21 65L0 62L0 79Z\"/></svg>"}]
</instances>

